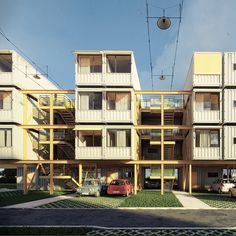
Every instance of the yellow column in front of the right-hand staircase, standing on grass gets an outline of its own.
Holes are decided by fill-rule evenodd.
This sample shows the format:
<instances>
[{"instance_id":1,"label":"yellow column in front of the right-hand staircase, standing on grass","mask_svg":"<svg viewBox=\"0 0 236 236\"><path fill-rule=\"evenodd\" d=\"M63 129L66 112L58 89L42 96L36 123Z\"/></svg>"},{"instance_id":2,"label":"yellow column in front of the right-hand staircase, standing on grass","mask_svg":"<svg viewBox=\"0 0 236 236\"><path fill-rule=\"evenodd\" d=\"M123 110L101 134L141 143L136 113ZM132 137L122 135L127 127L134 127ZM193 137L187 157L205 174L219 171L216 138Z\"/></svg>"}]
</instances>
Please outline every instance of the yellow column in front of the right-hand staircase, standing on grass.
<instances>
[{"instance_id":1,"label":"yellow column in front of the right-hand staircase, standing on grass","mask_svg":"<svg viewBox=\"0 0 236 236\"><path fill-rule=\"evenodd\" d=\"M164 95L161 95L161 126L164 126ZM161 130L161 160L164 161L164 129ZM161 164L161 195L164 194L164 164Z\"/></svg>"}]
</instances>

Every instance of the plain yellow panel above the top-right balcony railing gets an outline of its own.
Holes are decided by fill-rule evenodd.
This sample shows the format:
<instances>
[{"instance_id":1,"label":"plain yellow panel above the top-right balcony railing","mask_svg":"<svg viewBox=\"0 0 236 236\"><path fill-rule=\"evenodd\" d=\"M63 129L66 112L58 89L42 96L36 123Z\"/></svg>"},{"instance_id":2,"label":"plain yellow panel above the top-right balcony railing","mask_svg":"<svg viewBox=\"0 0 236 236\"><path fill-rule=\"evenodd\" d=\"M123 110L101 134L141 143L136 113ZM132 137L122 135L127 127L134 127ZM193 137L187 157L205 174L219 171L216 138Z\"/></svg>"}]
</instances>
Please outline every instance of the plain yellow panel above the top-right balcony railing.
<instances>
[{"instance_id":1,"label":"plain yellow panel above the top-right balcony railing","mask_svg":"<svg viewBox=\"0 0 236 236\"><path fill-rule=\"evenodd\" d=\"M221 53L195 52L193 55L194 74L220 75L222 73Z\"/></svg>"}]
</instances>

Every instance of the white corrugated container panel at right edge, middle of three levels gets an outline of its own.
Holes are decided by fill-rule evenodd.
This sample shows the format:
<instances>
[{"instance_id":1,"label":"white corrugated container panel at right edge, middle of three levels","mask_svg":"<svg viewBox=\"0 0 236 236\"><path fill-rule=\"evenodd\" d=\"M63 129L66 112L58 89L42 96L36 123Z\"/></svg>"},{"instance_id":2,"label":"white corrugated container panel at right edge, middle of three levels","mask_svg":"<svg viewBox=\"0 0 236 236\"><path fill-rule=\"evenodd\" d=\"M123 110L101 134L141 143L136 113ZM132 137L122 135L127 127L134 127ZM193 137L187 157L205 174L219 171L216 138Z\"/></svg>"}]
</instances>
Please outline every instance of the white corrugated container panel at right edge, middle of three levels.
<instances>
[{"instance_id":1,"label":"white corrugated container panel at right edge, middle of three levels","mask_svg":"<svg viewBox=\"0 0 236 236\"><path fill-rule=\"evenodd\" d=\"M236 89L224 90L224 122L236 122ZM236 104L235 104L236 105Z\"/></svg>"}]
</instances>

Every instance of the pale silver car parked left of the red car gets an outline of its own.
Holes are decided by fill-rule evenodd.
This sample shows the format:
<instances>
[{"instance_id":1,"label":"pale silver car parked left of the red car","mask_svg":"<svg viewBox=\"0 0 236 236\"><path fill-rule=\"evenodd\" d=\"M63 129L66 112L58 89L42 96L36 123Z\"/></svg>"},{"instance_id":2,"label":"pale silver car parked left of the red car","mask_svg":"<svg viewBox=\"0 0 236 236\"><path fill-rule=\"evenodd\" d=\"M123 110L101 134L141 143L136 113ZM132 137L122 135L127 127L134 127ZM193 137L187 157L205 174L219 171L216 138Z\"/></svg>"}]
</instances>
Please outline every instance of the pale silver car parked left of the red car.
<instances>
[{"instance_id":1,"label":"pale silver car parked left of the red car","mask_svg":"<svg viewBox=\"0 0 236 236\"><path fill-rule=\"evenodd\" d=\"M88 179L81 187L78 187L76 193L79 196L95 196L100 197L102 185L99 180Z\"/></svg>"}]
</instances>

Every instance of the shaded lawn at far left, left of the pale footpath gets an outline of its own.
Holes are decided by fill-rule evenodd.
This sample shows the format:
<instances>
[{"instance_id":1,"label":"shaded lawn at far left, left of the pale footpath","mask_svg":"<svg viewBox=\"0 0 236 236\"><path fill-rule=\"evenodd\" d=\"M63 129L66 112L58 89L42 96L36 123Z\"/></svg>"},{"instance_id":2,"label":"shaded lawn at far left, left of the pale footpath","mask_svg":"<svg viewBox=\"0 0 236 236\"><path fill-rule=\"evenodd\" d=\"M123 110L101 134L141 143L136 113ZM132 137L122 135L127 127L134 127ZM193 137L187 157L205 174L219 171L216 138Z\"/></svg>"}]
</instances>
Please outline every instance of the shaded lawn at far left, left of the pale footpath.
<instances>
[{"instance_id":1,"label":"shaded lawn at far left, left of the pale footpath","mask_svg":"<svg viewBox=\"0 0 236 236\"><path fill-rule=\"evenodd\" d=\"M53 195L50 195L49 191L30 191L26 195L23 194L23 191L2 192L0 193L0 207L55 197L62 194L65 194L65 192L55 191Z\"/></svg>"}]
</instances>

